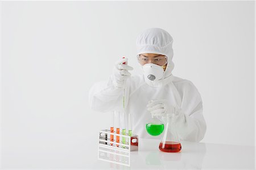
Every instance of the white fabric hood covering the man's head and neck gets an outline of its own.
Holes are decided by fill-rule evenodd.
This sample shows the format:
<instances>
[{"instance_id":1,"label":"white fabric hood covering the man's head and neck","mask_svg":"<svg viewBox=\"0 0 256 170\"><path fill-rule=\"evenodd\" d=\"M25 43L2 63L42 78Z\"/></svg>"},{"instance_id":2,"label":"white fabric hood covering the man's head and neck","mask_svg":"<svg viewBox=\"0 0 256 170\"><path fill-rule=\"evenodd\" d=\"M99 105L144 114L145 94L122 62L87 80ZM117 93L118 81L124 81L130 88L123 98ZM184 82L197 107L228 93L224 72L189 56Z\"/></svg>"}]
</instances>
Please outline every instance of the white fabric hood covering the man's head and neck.
<instances>
[{"instance_id":1,"label":"white fabric hood covering the man's head and neck","mask_svg":"<svg viewBox=\"0 0 256 170\"><path fill-rule=\"evenodd\" d=\"M171 81L172 70L174 69L172 42L172 36L161 28L148 28L137 37L137 55L141 53L156 53L168 57L168 64L163 79L150 81L144 78L148 85L159 87Z\"/></svg>"}]
</instances>

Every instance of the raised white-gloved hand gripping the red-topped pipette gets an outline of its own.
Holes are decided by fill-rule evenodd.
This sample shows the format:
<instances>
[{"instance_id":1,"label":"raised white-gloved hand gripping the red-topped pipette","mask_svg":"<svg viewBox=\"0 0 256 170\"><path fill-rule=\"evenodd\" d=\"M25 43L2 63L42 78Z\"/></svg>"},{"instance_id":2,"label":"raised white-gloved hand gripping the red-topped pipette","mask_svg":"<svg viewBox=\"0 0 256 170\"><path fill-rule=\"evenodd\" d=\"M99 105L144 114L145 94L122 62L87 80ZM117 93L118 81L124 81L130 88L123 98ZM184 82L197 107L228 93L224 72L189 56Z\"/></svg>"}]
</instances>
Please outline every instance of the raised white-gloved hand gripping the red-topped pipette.
<instances>
[{"instance_id":1,"label":"raised white-gloved hand gripping the red-topped pipette","mask_svg":"<svg viewBox=\"0 0 256 170\"><path fill-rule=\"evenodd\" d=\"M123 80L126 80L131 76L128 71L133 70L133 67L127 65L127 58L119 59L115 62L113 69L113 84L115 88L122 88ZM126 63L126 64L123 64Z\"/></svg>"}]
</instances>

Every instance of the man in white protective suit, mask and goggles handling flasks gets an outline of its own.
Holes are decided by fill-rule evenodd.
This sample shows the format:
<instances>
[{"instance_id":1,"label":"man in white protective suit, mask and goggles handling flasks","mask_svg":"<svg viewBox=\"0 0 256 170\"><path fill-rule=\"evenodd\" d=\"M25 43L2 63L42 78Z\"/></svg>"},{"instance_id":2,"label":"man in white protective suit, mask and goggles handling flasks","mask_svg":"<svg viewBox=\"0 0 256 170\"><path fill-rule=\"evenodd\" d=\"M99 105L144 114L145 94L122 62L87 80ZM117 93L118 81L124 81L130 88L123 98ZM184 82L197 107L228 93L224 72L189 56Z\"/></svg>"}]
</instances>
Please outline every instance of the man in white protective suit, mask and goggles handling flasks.
<instances>
[{"instance_id":1,"label":"man in white protective suit, mask and goggles handling flasks","mask_svg":"<svg viewBox=\"0 0 256 170\"><path fill-rule=\"evenodd\" d=\"M191 81L172 75L174 55L172 37L161 28L149 28L137 38L137 58L141 76L131 76L133 68L115 63L113 74L106 82L98 82L89 93L90 106L98 111L122 110L125 84L125 109L133 115L133 134L139 138L157 138L146 131L146 123L157 117L164 122L166 115L175 123L180 140L200 142L206 123L200 93Z\"/></svg>"}]
</instances>

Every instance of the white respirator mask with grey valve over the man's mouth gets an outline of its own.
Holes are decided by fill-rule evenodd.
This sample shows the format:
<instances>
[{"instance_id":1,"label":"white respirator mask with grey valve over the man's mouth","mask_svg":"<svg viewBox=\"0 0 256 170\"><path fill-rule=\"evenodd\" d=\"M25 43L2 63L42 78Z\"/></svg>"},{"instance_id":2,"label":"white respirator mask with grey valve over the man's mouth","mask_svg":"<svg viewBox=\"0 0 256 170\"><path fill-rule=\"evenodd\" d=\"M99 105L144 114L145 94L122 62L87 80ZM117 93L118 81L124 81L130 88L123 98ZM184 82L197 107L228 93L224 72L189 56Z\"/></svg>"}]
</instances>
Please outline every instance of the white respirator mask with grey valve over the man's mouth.
<instances>
[{"instance_id":1,"label":"white respirator mask with grey valve over the man's mouth","mask_svg":"<svg viewBox=\"0 0 256 170\"><path fill-rule=\"evenodd\" d=\"M150 81L158 81L164 77L164 69L160 65L148 63L142 66L144 78Z\"/></svg>"}]
</instances>

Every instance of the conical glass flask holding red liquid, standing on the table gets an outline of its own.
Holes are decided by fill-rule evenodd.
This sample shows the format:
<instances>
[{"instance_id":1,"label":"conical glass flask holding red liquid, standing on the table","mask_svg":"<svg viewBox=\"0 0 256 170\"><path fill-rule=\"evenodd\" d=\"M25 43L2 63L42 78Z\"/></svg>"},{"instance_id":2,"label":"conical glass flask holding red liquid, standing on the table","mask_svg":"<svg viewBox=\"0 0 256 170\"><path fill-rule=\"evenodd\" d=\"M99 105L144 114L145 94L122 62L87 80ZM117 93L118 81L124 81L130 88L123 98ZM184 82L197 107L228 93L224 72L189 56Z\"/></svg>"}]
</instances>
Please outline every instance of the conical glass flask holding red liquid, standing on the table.
<instances>
[{"instance_id":1,"label":"conical glass flask holding red liquid, standing on the table","mask_svg":"<svg viewBox=\"0 0 256 170\"><path fill-rule=\"evenodd\" d=\"M164 119L164 132L159 144L159 150L163 152L179 152L181 144L175 130L172 114L167 114Z\"/></svg>"}]
</instances>

